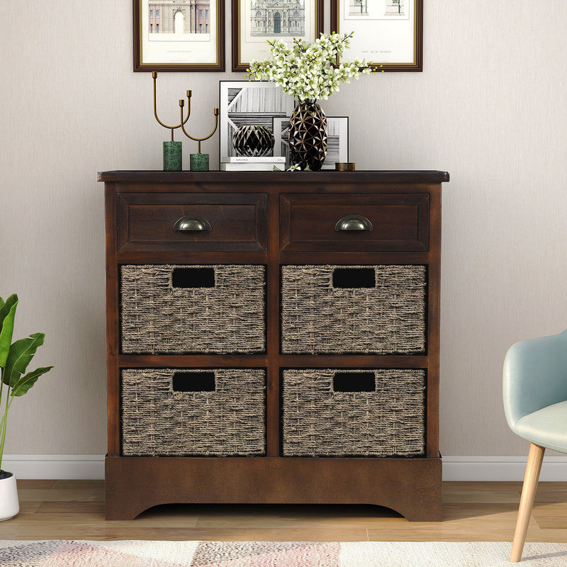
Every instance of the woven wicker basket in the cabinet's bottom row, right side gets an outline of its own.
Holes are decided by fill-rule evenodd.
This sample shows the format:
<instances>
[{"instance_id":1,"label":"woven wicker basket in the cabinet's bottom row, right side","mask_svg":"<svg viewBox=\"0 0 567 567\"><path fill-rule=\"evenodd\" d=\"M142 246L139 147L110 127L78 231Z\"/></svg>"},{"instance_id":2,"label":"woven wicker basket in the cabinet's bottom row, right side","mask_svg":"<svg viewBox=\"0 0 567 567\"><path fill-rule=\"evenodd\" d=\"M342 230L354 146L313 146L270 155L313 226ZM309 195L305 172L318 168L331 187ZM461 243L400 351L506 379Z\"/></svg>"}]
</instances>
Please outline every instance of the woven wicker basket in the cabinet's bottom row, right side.
<instances>
[{"instance_id":1,"label":"woven wicker basket in the cabinet's bottom row, right side","mask_svg":"<svg viewBox=\"0 0 567 567\"><path fill-rule=\"evenodd\" d=\"M349 375L374 378L374 391L336 391ZM425 453L423 370L286 370L282 402L284 456Z\"/></svg>"}]
</instances>

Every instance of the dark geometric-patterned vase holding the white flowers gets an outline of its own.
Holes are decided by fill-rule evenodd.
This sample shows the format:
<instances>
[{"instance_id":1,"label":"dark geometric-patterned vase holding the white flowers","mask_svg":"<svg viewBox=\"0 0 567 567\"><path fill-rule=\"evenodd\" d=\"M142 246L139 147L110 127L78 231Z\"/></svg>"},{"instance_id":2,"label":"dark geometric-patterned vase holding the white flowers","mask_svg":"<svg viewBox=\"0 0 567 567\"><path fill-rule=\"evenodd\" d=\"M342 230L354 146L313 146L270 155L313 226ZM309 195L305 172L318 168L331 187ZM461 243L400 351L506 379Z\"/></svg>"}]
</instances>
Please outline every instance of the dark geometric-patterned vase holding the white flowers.
<instances>
[{"instance_id":1,"label":"dark geometric-patterned vase holding the white flowers","mask_svg":"<svg viewBox=\"0 0 567 567\"><path fill-rule=\"evenodd\" d=\"M327 155L327 116L315 101L299 101L289 120L291 163L318 172Z\"/></svg>"}]
</instances>

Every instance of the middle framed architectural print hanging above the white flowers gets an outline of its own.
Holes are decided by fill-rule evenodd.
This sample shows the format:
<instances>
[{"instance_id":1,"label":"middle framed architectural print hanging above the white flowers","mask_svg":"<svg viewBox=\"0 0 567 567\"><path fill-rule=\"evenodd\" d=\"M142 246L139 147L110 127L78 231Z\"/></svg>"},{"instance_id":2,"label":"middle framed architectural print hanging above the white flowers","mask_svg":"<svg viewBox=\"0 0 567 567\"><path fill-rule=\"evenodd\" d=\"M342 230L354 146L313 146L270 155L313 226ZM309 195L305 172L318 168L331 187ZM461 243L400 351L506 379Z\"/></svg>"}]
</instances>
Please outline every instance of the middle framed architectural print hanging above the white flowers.
<instances>
[{"instance_id":1,"label":"middle framed architectural print hanging above the white flowers","mask_svg":"<svg viewBox=\"0 0 567 567\"><path fill-rule=\"evenodd\" d=\"M269 40L314 41L323 30L324 0L232 0L232 71L269 56Z\"/></svg>"}]
</instances>

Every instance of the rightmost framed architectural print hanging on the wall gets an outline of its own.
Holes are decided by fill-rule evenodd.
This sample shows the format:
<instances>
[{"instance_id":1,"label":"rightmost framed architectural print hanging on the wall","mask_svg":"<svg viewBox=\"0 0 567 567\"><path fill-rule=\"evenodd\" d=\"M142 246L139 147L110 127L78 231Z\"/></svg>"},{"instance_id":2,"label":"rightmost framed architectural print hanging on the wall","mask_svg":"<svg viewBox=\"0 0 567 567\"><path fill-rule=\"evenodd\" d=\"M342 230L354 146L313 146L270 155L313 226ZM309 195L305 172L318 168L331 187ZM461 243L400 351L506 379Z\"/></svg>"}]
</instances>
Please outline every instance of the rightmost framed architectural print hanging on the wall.
<instances>
[{"instance_id":1,"label":"rightmost framed architectural print hanging on the wall","mask_svg":"<svg viewBox=\"0 0 567 567\"><path fill-rule=\"evenodd\" d=\"M423 0L331 0L331 29L354 32L349 60L376 71L421 71Z\"/></svg>"}]
</instances>

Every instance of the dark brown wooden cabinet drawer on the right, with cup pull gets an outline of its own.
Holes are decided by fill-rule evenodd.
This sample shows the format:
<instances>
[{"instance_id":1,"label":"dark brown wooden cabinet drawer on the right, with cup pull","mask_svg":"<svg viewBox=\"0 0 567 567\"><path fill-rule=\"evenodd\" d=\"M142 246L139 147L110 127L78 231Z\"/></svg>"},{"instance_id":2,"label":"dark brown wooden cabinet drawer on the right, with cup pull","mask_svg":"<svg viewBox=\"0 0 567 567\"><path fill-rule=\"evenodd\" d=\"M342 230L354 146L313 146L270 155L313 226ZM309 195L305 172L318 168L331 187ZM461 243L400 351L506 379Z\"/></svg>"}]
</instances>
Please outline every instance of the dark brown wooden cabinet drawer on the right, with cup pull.
<instances>
[{"instance_id":1,"label":"dark brown wooden cabinet drawer on the right, with cup pull","mask_svg":"<svg viewBox=\"0 0 567 567\"><path fill-rule=\"evenodd\" d=\"M429 203L428 193L282 195L280 248L291 252L427 251ZM352 230L352 223L347 223L352 215L368 220L367 230Z\"/></svg>"}]
</instances>

